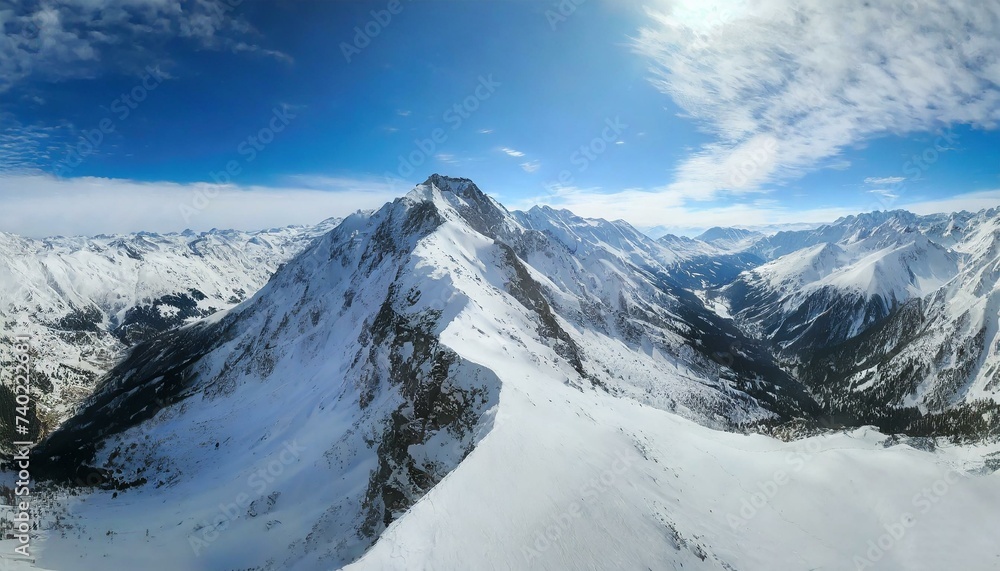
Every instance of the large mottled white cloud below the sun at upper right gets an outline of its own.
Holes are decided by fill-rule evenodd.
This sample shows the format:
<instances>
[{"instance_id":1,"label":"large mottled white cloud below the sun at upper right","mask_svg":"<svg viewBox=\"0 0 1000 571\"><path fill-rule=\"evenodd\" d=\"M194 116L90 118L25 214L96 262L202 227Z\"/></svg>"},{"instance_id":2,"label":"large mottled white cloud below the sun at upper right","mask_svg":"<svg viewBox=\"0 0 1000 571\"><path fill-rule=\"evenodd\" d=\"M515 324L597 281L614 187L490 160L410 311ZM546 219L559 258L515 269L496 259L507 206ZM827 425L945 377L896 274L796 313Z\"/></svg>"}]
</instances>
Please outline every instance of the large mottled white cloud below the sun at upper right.
<instances>
[{"instance_id":1,"label":"large mottled white cloud below the sun at upper right","mask_svg":"<svg viewBox=\"0 0 1000 571\"><path fill-rule=\"evenodd\" d=\"M753 191L884 134L1000 120L1000 3L660 0L634 48L716 140L665 190Z\"/></svg>"}]
</instances>

